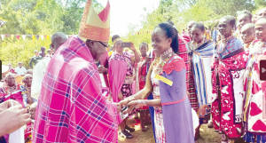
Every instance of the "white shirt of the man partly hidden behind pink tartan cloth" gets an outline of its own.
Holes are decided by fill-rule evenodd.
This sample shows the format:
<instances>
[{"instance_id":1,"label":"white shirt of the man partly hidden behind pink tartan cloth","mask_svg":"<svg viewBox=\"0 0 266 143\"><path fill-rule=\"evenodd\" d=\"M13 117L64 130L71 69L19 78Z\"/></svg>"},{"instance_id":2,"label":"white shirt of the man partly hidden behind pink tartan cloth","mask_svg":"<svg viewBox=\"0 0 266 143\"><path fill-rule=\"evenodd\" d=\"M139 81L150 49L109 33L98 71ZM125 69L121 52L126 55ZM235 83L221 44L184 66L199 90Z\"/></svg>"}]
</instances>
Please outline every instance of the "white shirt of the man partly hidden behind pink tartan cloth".
<instances>
[{"instance_id":1,"label":"white shirt of the man partly hidden behind pink tartan cloth","mask_svg":"<svg viewBox=\"0 0 266 143\"><path fill-rule=\"evenodd\" d=\"M40 92L42 89L44 72L46 71L46 68L50 60L51 60L50 57L46 57L45 59L40 60L35 65L35 68L33 68L33 77L32 77L32 83L31 83L31 97L34 99L39 99Z\"/></svg>"}]
</instances>

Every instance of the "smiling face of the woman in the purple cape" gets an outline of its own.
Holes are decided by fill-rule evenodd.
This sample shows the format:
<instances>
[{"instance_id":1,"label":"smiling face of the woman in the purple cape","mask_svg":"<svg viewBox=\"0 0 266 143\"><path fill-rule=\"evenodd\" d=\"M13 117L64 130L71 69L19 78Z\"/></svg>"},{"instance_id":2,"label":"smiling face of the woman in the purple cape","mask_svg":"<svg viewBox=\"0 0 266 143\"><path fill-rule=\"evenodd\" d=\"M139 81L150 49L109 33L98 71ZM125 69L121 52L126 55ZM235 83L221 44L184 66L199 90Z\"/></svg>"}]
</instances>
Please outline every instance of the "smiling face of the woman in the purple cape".
<instances>
[{"instance_id":1,"label":"smiling face of the woman in the purple cape","mask_svg":"<svg viewBox=\"0 0 266 143\"><path fill-rule=\"evenodd\" d=\"M156 55L160 55L163 52L171 48L172 38L168 38L165 32L161 28L155 28L152 33L152 45L153 51Z\"/></svg>"}]
</instances>

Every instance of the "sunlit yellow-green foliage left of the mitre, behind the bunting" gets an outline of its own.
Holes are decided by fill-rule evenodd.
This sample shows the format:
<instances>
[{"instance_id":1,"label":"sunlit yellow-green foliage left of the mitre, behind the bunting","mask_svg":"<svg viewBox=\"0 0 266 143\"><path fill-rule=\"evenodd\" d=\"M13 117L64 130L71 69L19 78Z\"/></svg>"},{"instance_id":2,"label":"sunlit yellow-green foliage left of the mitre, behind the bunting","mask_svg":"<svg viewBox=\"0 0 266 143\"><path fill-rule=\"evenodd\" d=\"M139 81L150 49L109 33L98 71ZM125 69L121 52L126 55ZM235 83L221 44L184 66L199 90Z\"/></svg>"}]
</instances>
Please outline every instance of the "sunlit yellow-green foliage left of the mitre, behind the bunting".
<instances>
[{"instance_id":1,"label":"sunlit yellow-green foliage left of the mitre, behind the bunting","mask_svg":"<svg viewBox=\"0 0 266 143\"><path fill-rule=\"evenodd\" d=\"M5 2L6 1L6 2ZM1 0L0 20L6 21L1 34L6 35L52 35L63 32L66 35L76 35L79 31L82 12L87 0ZM96 12L103 6L93 0ZM82 5L82 6L81 6ZM16 66L19 61L28 68L28 62L34 51L40 47L49 48L50 39L33 40L27 38L5 37L0 41L0 60L3 64L12 63Z\"/></svg>"}]
</instances>

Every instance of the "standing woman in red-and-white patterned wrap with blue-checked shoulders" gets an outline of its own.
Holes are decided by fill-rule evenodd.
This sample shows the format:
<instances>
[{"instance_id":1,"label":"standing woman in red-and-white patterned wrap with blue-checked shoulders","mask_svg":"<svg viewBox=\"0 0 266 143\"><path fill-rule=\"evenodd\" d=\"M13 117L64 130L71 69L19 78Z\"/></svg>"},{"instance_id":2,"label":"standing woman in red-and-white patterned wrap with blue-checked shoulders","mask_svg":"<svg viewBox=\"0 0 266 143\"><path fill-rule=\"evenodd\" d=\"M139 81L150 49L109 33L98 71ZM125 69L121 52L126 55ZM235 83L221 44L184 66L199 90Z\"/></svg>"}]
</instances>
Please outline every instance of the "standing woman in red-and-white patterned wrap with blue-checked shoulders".
<instances>
[{"instance_id":1,"label":"standing woman in red-and-white patterned wrap with blue-checked shoulders","mask_svg":"<svg viewBox=\"0 0 266 143\"><path fill-rule=\"evenodd\" d=\"M223 40L217 42L212 61L212 117L223 142L241 137L244 100L245 50L241 41L232 36L236 20L231 15L219 20Z\"/></svg>"}]
</instances>

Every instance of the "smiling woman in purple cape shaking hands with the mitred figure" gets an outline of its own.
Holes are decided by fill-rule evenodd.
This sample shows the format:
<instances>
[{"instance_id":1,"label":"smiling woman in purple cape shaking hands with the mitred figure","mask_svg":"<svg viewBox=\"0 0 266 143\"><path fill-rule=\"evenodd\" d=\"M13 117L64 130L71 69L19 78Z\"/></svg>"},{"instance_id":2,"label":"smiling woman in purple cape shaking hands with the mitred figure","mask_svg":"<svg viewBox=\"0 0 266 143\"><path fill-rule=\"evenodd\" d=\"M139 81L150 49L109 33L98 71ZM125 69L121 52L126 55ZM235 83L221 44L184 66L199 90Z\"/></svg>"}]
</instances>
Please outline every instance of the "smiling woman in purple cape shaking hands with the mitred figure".
<instances>
[{"instance_id":1,"label":"smiling woman in purple cape shaking hands with the mitred figure","mask_svg":"<svg viewBox=\"0 0 266 143\"><path fill-rule=\"evenodd\" d=\"M160 23L153 29L153 60L146 77L145 89L120 104L129 106L129 113L137 105L154 107L156 143L194 142L192 107L186 95L185 64L178 52L176 28ZM145 99L153 93L153 99Z\"/></svg>"}]
</instances>

